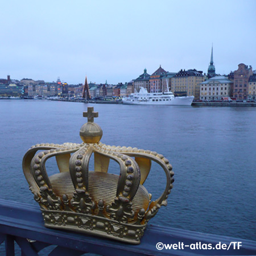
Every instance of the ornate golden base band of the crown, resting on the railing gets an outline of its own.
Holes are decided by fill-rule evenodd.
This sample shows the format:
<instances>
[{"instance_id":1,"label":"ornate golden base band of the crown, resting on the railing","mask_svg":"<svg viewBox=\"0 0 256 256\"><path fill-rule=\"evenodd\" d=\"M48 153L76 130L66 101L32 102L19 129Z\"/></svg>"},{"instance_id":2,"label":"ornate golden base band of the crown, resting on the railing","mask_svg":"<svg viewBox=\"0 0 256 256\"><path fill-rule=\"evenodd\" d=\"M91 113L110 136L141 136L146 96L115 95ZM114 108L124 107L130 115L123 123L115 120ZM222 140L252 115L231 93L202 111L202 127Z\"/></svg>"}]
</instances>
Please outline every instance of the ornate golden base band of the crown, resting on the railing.
<instances>
[{"instance_id":1,"label":"ornate golden base band of the crown, resting on the railing","mask_svg":"<svg viewBox=\"0 0 256 256\"><path fill-rule=\"evenodd\" d=\"M41 209L44 226L54 229L65 229L138 245L141 243L144 225L127 224L105 217L64 210Z\"/></svg>"}]
</instances>

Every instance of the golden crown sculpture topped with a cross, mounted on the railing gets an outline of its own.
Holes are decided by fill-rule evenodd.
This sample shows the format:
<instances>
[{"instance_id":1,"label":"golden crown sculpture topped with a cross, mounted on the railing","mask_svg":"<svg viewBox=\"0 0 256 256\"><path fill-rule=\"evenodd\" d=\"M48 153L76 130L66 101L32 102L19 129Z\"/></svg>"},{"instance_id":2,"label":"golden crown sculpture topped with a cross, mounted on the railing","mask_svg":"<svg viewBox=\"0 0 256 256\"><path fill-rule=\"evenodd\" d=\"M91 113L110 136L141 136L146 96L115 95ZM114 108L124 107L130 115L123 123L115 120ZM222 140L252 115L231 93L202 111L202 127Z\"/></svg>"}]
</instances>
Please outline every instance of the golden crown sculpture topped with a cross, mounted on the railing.
<instances>
[{"instance_id":1,"label":"golden crown sculpture topped with a cross, mounted on the railing","mask_svg":"<svg viewBox=\"0 0 256 256\"><path fill-rule=\"evenodd\" d=\"M167 205L174 181L172 166L150 150L102 144L101 127L93 122L98 113L88 108L84 117L88 118L80 130L84 143L36 144L24 155L23 172L45 226L140 243L148 220ZM92 154L94 171L89 171ZM52 156L60 173L48 177L46 160ZM119 176L108 174L110 159L119 164ZM152 202L143 187L151 160L163 168L167 179L163 194Z\"/></svg>"}]
</instances>

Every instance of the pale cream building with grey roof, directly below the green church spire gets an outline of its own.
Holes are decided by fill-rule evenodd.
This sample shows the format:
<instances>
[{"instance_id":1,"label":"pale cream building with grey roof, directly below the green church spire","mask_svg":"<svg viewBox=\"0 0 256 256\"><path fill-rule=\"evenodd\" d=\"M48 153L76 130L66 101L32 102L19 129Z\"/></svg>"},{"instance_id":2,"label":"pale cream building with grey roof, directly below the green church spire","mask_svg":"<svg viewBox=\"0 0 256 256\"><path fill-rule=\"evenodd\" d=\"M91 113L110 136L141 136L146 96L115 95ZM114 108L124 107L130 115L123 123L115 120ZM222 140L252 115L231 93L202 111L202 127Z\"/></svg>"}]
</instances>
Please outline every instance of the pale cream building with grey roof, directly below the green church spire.
<instances>
[{"instance_id":1,"label":"pale cream building with grey roof, directly below the green church spire","mask_svg":"<svg viewBox=\"0 0 256 256\"><path fill-rule=\"evenodd\" d=\"M230 97L233 93L233 82L226 76L214 76L200 83L200 100L216 101Z\"/></svg>"}]
</instances>

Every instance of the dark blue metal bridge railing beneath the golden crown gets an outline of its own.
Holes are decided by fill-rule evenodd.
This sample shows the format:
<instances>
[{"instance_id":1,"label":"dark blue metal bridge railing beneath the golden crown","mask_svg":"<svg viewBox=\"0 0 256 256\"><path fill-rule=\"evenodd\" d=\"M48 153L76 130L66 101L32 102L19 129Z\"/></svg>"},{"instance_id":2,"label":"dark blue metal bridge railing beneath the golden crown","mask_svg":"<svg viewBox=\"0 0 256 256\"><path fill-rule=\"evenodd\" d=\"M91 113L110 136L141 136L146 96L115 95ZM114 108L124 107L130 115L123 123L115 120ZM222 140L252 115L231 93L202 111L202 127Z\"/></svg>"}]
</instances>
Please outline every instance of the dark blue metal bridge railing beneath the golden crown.
<instances>
[{"instance_id":1,"label":"dark blue metal bridge railing beneath the golden crown","mask_svg":"<svg viewBox=\"0 0 256 256\"><path fill-rule=\"evenodd\" d=\"M28 240L27 240L28 238ZM33 240L33 241L31 241ZM148 225L140 245L129 245L86 234L65 232L58 229L44 227L39 206L18 203L0 199L0 243L5 241L6 255L14 254L14 241L22 250L22 255L38 255L38 251L49 245L57 247L49 255L82 255L95 253L104 256L113 255L255 255L256 241L241 238L218 236ZM36 241L36 242L34 242ZM165 244L183 242L192 243L229 244L232 241L242 242L240 250L157 250L156 243Z\"/></svg>"}]
</instances>

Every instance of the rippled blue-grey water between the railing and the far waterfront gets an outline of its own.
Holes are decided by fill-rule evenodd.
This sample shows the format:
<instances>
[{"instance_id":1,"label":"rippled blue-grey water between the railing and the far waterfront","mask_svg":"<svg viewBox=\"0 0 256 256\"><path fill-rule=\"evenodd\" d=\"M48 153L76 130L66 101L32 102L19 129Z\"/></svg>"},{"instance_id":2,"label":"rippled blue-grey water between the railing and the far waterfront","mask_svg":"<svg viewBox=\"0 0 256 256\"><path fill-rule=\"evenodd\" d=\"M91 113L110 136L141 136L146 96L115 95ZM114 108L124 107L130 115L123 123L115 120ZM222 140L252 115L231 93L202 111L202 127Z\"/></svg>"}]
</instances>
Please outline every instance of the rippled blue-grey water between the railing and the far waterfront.
<instances>
[{"instance_id":1,"label":"rippled blue-grey water between the railing and the far waterfront","mask_svg":"<svg viewBox=\"0 0 256 256\"><path fill-rule=\"evenodd\" d=\"M256 108L100 105L0 101L0 198L36 205L22 158L36 143L80 143L87 106L101 142L159 152L175 172L167 207L150 223L256 240ZM53 162L48 164L52 174ZM118 173L116 165L111 172ZM144 183L156 199L164 172L153 165Z\"/></svg>"}]
</instances>

